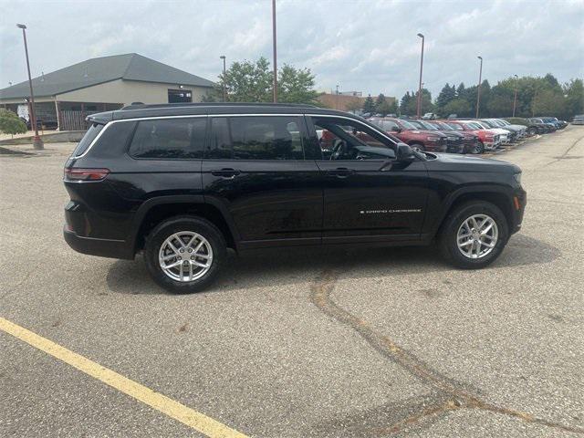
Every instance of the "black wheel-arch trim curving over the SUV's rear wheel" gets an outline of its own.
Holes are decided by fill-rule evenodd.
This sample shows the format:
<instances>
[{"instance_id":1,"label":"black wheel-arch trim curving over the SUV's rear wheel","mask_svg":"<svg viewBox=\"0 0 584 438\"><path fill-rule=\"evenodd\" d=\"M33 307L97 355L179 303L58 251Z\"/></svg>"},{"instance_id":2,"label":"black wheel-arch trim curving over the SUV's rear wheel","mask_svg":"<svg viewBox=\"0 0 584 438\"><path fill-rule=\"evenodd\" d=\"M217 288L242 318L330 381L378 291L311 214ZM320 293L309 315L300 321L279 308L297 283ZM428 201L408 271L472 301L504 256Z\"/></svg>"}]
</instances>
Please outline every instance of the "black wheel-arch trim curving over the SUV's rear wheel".
<instances>
[{"instance_id":1,"label":"black wheel-arch trim curving over the SUV's rear wheel","mask_svg":"<svg viewBox=\"0 0 584 438\"><path fill-rule=\"evenodd\" d=\"M222 203L213 197L203 196L202 194L177 194L169 196L156 196L141 204L141 206L134 214L134 218L132 219L132 234L130 235L130 239L128 241L130 248L133 248L136 245L138 232L140 231L142 221L146 214L151 210L152 207L165 203L198 203L213 205L223 216L225 223L229 227L231 235L234 237L235 245L239 245L240 238L239 233L237 232L237 228L235 227L234 220Z\"/></svg>"}]
</instances>

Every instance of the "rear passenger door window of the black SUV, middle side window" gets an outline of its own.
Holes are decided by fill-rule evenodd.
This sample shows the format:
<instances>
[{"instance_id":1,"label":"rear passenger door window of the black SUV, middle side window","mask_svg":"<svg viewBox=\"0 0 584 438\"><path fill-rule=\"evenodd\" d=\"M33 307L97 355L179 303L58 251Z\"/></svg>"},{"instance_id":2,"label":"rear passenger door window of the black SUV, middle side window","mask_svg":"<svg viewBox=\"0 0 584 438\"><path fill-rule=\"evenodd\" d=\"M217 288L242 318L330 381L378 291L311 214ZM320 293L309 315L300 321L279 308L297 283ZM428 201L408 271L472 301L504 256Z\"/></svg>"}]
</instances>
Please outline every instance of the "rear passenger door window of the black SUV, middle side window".
<instances>
[{"instance_id":1,"label":"rear passenger door window of the black SUV, middle side window","mask_svg":"<svg viewBox=\"0 0 584 438\"><path fill-rule=\"evenodd\" d=\"M297 117L230 117L212 122L207 158L303 160Z\"/></svg>"}]
</instances>

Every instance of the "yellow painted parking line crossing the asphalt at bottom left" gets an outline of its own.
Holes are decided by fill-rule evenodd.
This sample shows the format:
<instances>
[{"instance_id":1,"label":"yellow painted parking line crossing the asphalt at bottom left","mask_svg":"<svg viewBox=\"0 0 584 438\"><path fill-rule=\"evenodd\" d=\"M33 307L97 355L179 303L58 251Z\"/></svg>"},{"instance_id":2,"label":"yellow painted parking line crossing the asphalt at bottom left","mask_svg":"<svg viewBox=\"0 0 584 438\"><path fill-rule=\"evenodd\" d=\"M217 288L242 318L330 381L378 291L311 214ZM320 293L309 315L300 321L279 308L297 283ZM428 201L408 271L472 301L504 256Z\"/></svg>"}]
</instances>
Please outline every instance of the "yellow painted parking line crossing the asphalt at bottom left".
<instances>
[{"instance_id":1,"label":"yellow painted parking line crossing the asphalt at bottom left","mask_svg":"<svg viewBox=\"0 0 584 438\"><path fill-rule=\"evenodd\" d=\"M151 408L165 413L174 420L183 422L200 433L211 437L245 438L245 434L231 429L222 422L217 422L213 418L201 412L196 412L178 401L174 401L159 392L152 391L150 388L136 381L131 381L116 371L109 370L93 360L89 360L70 349L61 347L51 340L16 325L14 322L0 317L0 329L17 339L25 341L36 349L45 351L54 358L62 360L68 365L85 372L94 379L102 381L112 388L147 404Z\"/></svg>"}]
</instances>

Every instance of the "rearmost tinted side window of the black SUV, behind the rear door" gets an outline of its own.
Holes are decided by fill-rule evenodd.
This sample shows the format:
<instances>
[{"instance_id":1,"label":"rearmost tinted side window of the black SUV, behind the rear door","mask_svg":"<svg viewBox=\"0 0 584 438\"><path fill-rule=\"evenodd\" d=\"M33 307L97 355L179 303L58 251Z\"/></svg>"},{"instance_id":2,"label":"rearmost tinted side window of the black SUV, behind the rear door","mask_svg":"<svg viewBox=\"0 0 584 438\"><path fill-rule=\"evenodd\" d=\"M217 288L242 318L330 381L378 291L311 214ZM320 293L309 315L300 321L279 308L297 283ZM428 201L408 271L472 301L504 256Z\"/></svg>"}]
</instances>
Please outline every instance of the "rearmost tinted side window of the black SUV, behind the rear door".
<instances>
[{"instance_id":1,"label":"rearmost tinted side window of the black SUV, behind the rear door","mask_svg":"<svg viewBox=\"0 0 584 438\"><path fill-rule=\"evenodd\" d=\"M135 158L203 158L206 118L141 120L130 144Z\"/></svg>"}]
</instances>

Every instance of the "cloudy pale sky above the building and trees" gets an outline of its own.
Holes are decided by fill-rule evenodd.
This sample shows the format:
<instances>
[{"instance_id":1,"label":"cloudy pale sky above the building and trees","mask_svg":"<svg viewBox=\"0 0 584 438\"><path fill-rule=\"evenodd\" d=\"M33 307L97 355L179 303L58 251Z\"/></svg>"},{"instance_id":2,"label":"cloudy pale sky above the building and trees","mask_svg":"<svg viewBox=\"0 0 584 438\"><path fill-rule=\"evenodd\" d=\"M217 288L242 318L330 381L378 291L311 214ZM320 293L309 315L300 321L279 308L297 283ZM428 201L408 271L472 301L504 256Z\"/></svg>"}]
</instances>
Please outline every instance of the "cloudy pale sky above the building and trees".
<instances>
[{"instance_id":1,"label":"cloudy pale sky above the building and trees","mask_svg":"<svg viewBox=\"0 0 584 438\"><path fill-rule=\"evenodd\" d=\"M277 0L278 64L311 68L317 88L388 96L423 82L494 84L514 74L584 77L584 0ZM271 58L270 0L0 0L0 88L89 57L136 52L214 80L228 62Z\"/></svg>"}]
</instances>

